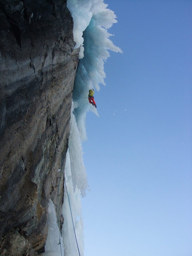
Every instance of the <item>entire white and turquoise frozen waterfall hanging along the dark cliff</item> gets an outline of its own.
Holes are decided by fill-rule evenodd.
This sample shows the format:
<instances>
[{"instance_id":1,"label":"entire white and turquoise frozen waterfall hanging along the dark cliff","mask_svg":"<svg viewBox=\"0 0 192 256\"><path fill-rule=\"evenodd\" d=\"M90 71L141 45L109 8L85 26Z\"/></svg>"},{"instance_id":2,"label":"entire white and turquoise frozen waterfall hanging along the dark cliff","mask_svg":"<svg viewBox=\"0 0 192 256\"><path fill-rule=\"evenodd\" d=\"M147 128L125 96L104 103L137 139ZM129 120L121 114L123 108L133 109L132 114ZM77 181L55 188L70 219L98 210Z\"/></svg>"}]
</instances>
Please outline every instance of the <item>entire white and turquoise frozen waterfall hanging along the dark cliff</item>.
<instances>
[{"instance_id":1,"label":"entire white and turquoise frozen waterfall hanging along the dark cliff","mask_svg":"<svg viewBox=\"0 0 192 256\"><path fill-rule=\"evenodd\" d=\"M66 187L62 208L64 217L62 248L60 249L60 246L57 245L59 229L56 223L56 217L54 217L56 216L54 215L54 205L50 201L46 250L54 251L55 253L59 253L60 250L60 255L62 253L65 256L78 256L79 254L83 256L81 196L85 196L88 184L81 143L87 140L85 129L86 113L92 111L98 115L97 110L88 102L88 91L92 88L99 91L99 84L105 85L103 65L104 61L110 56L108 49L115 52L122 51L119 47L113 45L109 39L111 34L108 33L107 29L117 21L114 12L106 8L107 5L103 3L103 0L67 0L67 7L74 21L73 34L74 41L76 41L76 48L81 46L80 60L73 88L69 154L67 155L65 165ZM54 228L53 225L56 227ZM47 256L53 255L47 254Z\"/></svg>"}]
</instances>

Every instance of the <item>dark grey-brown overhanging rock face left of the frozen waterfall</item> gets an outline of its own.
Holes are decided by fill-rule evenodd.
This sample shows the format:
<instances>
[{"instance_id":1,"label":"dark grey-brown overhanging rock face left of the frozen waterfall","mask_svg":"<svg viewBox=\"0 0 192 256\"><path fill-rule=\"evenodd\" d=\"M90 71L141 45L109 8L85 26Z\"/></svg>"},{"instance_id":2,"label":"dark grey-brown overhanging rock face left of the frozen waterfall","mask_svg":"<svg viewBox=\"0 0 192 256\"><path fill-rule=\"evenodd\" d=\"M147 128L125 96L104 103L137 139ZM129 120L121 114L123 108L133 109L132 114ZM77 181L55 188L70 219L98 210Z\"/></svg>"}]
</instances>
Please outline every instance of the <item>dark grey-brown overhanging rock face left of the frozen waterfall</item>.
<instances>
[{"instance_id":1,"label":"dark grey-brown overhanging rock face left of the frozen waterfall","mask_svg":"<svg viewBox=\"0 0 192 256\"><path fill-rule=\"evenodd\" d=\"M0 255L36 255L45 247L49 198L62 225L79 50L66 0L0 0L0 7Z\"/></svg>"}]
</instances>

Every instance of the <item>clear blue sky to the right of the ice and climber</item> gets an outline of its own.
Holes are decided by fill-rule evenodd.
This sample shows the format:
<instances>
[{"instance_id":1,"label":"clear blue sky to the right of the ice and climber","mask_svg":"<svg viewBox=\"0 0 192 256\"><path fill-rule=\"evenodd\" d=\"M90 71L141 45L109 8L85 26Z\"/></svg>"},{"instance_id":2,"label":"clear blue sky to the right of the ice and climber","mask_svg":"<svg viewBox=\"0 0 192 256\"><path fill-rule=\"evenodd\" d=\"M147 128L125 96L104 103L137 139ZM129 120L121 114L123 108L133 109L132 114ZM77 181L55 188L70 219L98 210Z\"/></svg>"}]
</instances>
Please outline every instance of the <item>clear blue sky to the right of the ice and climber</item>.
<instances>
[{"instance_id":1,"label":"clear blue sky to the right of the ice and climber","mask_svg":"<svg viewBox=\"0 0 192 256\"><path fill-rule=\"evenodd\" d=\"M106 0L118 23L87 114L85 256L192 255L192 1Z\"/></svg>"}]
</instances>

